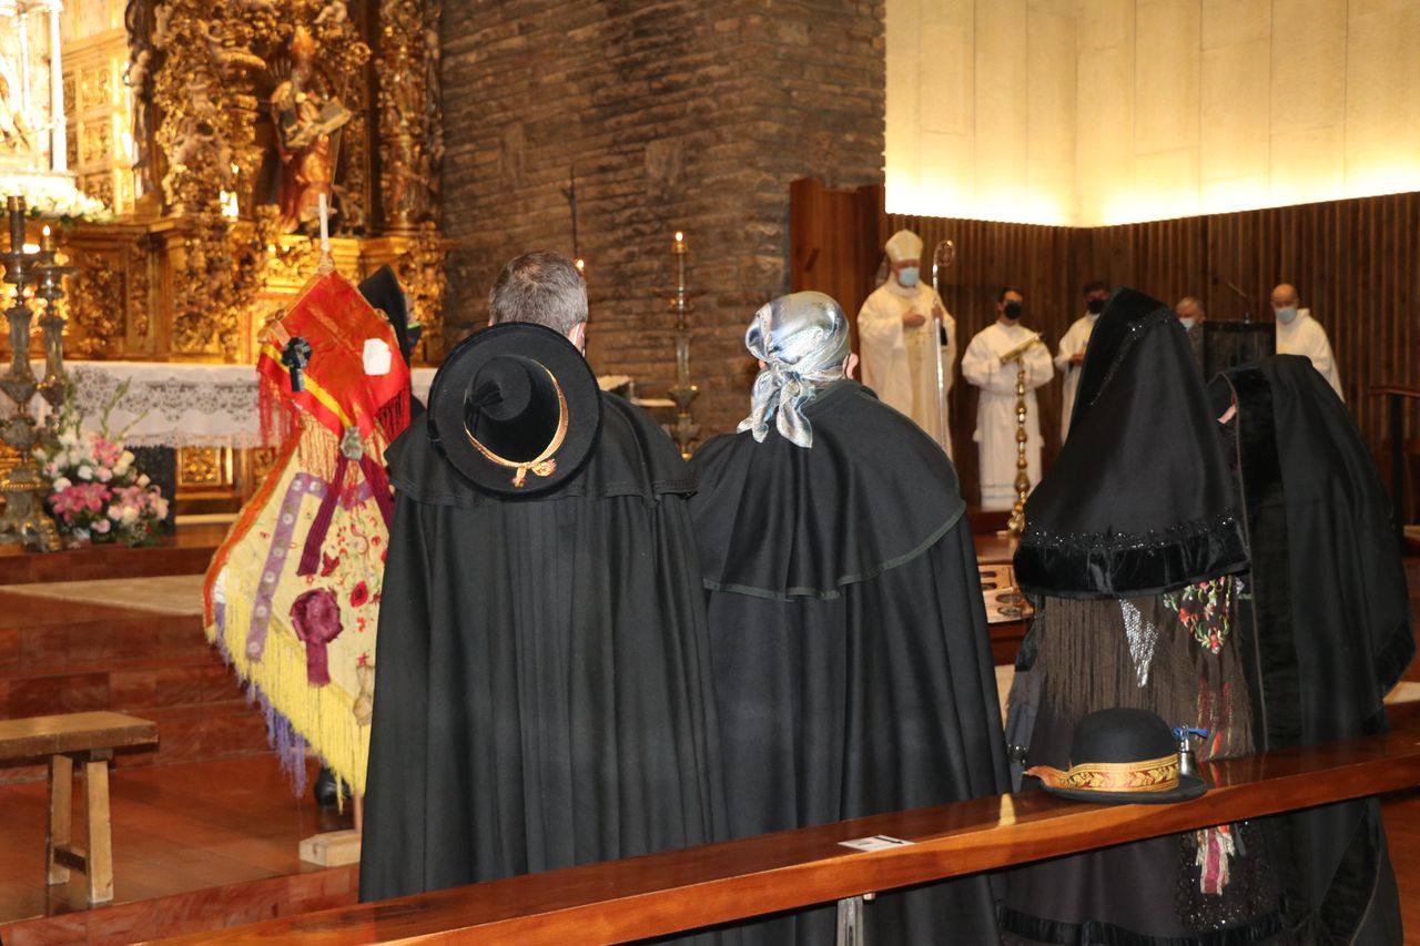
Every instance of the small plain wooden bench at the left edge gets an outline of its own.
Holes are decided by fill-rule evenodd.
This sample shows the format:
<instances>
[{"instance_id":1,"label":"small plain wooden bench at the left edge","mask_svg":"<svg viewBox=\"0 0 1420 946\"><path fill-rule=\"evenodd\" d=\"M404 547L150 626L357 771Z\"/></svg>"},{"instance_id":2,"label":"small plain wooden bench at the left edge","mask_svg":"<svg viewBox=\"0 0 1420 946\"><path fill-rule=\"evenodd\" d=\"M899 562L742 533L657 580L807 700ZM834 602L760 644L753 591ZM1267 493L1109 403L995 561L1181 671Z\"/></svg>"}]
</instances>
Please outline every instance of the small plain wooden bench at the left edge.
<instances>
[{"instance_id":1,"label":"small plain wooden bench at the left edge","mask_svg":"<svg viewBox=\"0 0 1420 946\"><path fill-rule=\"evenodd\" d=\"M108 807L108 763L115 749L155 746L158 724L122 713L65 713L0 722L0 763L50 757L50 822L45 869L50 884L70 871L88 879L88 902L114 899L114 834ZM88 851L71 844L74 763L84 767Z\"/></svg>"}]
</instances>

